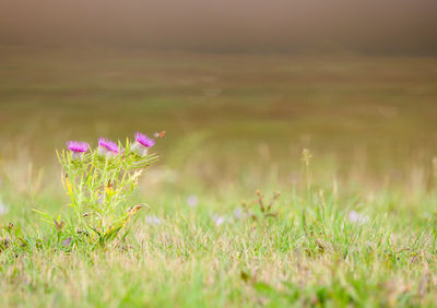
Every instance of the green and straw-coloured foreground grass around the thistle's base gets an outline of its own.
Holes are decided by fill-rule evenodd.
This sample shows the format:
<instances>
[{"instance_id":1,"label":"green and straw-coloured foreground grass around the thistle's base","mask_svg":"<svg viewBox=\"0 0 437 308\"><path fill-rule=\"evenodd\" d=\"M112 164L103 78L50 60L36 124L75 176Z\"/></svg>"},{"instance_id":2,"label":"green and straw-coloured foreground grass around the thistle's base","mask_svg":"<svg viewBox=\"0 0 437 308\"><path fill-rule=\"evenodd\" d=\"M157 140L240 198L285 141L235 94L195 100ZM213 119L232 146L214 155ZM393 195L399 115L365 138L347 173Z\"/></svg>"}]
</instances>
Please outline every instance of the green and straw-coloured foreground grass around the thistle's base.
<instances>
[{"instance_id":1,"label":"green and straw-coloured foreground grass around the thistle's base","mask_svg":"<svg viewBox=\"0 0 437 308\"><path fill-rule=\"evenodd\" d=\"M66 251L27 214L17 218L27 246L0 254L1 304L433 306L435 193L310 189L283 193L277 217L262 221L228 220L237 192L225 204L200 196L197 208L168 193L155 200L161 224L140 220L126 246L97 250ZM368 220L351 221L351 211Z\"/></svg>"}]
</instances>

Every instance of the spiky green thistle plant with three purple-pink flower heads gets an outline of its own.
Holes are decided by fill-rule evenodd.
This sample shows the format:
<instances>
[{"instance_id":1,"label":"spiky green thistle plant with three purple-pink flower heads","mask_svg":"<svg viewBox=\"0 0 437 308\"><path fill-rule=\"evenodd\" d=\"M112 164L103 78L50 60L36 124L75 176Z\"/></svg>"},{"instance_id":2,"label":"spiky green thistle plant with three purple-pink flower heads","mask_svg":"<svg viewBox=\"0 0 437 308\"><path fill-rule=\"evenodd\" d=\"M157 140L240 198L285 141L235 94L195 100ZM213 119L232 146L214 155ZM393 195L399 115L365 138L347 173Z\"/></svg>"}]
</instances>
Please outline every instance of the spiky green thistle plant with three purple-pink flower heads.
<instances>
[{"instance_id":1,"label":"spiky green thistle plant with three purple-pink flower heads","mask_svg":"<svg viewBox=\"0 0 437 308\"><path fill-rule=\"evenodd\" d=\"M70 141L68 150L57 151L71 215L63 229L57 220L45 217L58 234L64 234L62 242L68 238L69 244L105 245L128 234L137 212L147 206L131 204L129 197L144 169L157 159L149 154L154 144L153 139L137 132L135 141L128 139L125 147L101 138L94 150L86 142Z\"/></svg>"}]
</instances>

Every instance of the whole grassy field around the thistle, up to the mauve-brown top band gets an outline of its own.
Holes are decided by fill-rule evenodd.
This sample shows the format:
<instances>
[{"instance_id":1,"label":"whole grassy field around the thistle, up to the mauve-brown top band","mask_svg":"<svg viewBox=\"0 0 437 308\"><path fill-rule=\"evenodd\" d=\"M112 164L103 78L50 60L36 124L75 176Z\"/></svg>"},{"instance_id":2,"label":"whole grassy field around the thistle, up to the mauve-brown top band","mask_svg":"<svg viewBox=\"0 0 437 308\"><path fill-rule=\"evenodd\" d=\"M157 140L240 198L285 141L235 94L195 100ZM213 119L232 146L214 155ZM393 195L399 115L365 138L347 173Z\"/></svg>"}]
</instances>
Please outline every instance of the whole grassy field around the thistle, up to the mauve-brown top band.
<instances>
[{"instance_id":1,"label":"whole grassy field around the thistle, up to the mauve-brown top band","mask_svg":"<svg viewBox=\"0 0 437 308\"><path fill-rule=\"evenodd\" d=\"M1 47L0 306L433 307L436 102L434 58ZM55 149L155 130L126 242L60 245Z\"/></svg>"}]
</instances>

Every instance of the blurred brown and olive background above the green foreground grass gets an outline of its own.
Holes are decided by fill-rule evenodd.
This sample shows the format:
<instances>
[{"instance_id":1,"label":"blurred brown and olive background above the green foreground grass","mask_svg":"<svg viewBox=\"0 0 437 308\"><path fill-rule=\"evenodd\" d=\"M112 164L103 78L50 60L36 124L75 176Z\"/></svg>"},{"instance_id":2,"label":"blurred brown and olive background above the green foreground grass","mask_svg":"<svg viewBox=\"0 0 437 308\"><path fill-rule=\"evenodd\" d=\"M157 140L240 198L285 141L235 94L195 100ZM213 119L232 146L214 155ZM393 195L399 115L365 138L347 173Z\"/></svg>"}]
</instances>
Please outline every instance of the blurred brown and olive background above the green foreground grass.
<instances>
[{"instance_id":1,"label":"blurred brown and olive background above the green foreground grass","mask_svg":"<svg viewBox=\"0 0 437 308\"><path fill-rule=\"evenodd\" d=\"M166 130L145 190L291 188L305 147L330 181L426 187L436 16L435 0L3 0L3 185L59 185L70 139Z\"/></svg>"}]
</instances>

